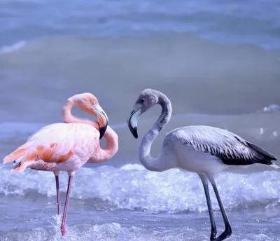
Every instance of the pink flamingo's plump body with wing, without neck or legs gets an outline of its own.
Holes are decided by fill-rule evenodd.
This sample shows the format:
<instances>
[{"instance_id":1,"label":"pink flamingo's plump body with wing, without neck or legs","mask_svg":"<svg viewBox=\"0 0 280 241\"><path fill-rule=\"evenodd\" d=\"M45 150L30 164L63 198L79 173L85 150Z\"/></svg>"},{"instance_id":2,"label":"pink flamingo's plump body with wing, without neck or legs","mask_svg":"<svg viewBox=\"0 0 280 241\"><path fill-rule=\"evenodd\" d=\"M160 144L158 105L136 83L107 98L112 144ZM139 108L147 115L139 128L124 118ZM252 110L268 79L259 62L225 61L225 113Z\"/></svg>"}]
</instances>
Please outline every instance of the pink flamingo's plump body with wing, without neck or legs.
<instances>
[{"instance_id":1,"label":"pink flamingo's plump body with wing, without neck or legs","mask_svg":"<svg viewBox=\"0 0 280 241\"><path fill-rule=\"evenodd\" d=\"M19 163L13 172L23 172L27 167L74 172L90 158L98 162L99 135L96 128L85 123L47 125L6 156L4 163Z\"/></svg>"}]
</instances>

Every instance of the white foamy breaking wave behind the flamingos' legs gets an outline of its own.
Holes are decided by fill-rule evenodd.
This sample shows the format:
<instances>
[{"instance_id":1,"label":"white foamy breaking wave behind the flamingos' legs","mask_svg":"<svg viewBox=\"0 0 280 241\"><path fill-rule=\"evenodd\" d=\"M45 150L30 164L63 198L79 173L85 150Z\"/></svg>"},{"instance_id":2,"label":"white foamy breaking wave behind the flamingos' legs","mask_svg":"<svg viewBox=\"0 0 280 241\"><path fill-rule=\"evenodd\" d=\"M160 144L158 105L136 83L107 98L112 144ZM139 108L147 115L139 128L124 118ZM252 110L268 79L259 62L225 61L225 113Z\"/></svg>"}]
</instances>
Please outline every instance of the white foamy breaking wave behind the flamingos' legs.
<instances>
[{"instance_id":1,"label":"white foamy breaking wave behind the flamingos' legs","mask_svg":"<svg viewBox=\"0 0 280 241\"><path fill-rule=\"evenodd\" d=\"M36 191L55 196L55 179L51 172L28 170L11 174L1 167L0 193L25 195ZM66 191L66 174L60 175L61 190ZM228 209L246 209L262 205L264 208L279 205L279 172L266 171L252 174L222 173L218 189ZM214 192L214 209L218 204ZM116 209L157 212L205 212L206 200L197 174L173 169L165 172L150 172L141 165L124 165L120 168L102 166L95 169L83 167L73 181L73 198L82 200L98 198Z\"/></svg>"}]
</instances>

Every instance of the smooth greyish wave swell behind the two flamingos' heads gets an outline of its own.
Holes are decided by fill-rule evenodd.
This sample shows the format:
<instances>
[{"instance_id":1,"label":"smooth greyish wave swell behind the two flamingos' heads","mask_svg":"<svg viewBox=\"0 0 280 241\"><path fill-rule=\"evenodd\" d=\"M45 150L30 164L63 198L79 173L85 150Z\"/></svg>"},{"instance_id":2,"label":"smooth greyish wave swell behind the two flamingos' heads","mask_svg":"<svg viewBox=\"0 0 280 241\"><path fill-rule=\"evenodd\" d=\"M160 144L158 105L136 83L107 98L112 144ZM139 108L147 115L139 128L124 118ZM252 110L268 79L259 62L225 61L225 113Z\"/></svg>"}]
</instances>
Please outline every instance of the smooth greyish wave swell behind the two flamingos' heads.
<instances>
[{"instance_id":1,"label":"smooth greyish wave swell behind the two flamingos' heads","mask_svg":"<svg viewBox=\"0 0 280 241\"><path fill-rule=\"evenodd\" d=\"M0 55L1 116L54 120L69 93L94 90L110 121L118 123L131 108L127 100L134 101L144 88L165 92L174 113L251 113L277 104L279 60L260 48L214 43L195 34L34 39Z\"/></svg>"}]
</instances>

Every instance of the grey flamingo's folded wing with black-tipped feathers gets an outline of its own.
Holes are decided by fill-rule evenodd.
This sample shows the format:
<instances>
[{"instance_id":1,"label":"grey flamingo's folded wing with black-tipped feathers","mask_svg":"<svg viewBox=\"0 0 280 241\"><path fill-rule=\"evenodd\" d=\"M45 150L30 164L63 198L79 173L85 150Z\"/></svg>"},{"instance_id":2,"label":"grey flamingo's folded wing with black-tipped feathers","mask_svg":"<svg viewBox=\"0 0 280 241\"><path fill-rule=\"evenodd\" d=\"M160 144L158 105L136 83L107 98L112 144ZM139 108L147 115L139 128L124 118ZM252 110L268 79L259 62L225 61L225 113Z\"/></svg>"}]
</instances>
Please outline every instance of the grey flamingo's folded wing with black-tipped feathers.
<instances>
[{"instance_id":1,"label":"grey flamingo's folded wing with black-tipped feathers","mask_svg":"<svg viewBox=\"0 0 280 241\"><path fill-rule=\"evenodd\" d=\"M183 145L216 156L226 165L273 165L272 160L276 160L275 156L255 144L220 128L193 125L174 129L167 135L179 135Z\"/></svg>"}]
</instances>

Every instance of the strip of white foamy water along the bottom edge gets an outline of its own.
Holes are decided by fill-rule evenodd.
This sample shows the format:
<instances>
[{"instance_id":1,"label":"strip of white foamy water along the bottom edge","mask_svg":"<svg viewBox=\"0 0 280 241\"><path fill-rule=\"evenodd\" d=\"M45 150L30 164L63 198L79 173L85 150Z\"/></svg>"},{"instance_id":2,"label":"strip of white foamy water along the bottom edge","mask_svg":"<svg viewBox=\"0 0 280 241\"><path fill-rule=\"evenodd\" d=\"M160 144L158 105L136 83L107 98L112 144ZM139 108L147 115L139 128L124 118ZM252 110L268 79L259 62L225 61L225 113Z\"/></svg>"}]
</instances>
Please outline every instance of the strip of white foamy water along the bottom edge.
<instances>
[{"instance_id":1,"label":"strip of white foamy water along the bottom edge","mask_svg":"<svg viewBox=\"0 0 280 241\"><path fill-rule=\"evenodd\" d=\"M0 231L0 240L14 241L59 241L62 236L58 219L52 223L50 228L39 227L28 230L13 230L9 233ZM153 228L146 230L132 226L130 228L120 225L120 223L105 223L102 225L76 225L68 228L68 233L63 240L71 241L208 241L209 230L190 228ZM238 228L238 233L233 233L230 237L232 241L274 241L279 240L279 235L269 233L269 230L251 230L251 228Z\"/></svg>"}]
</instances>

